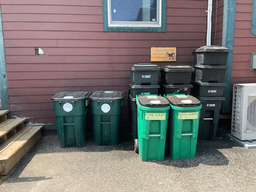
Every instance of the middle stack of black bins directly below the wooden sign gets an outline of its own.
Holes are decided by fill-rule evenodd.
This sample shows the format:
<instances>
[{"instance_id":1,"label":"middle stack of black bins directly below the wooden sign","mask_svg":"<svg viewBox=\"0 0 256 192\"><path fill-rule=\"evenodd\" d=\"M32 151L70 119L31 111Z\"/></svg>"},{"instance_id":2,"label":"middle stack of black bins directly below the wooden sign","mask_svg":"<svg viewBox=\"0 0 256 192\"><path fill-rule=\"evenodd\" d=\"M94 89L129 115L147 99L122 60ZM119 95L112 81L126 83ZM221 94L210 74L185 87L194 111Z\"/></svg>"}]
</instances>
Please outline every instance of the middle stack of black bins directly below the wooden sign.
<instances>
[{"instance_id":1,"label":"middle stack of black bins directly below the wooden sign","mask_svg":"<svg viewBox=\"0 0 256 192\"><path fill-rule=\"evenodd\" d=\"M193 71L194 68L188 65L161 67L160 94L190 94Z\"/></svg>"}]
</instances>

